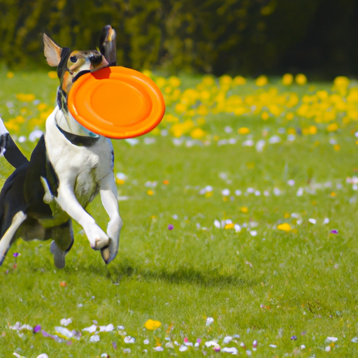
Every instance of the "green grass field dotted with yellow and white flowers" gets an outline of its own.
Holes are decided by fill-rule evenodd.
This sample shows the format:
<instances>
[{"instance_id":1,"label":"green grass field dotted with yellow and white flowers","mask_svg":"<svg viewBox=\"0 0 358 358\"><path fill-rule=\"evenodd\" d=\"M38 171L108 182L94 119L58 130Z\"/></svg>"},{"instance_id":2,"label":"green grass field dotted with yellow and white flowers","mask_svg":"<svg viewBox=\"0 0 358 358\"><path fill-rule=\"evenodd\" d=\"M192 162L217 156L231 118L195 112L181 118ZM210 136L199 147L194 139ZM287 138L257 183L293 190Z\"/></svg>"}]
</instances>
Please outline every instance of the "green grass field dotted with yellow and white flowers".
<instances>
[{"instance_id":1,"label":"green grass field dotted with yellow and white flowers","mask_svg":"<svg viewBox=\"0 0 358 358\"><path fill-rule=\"evenodd\" d=\"M27 155L52 75L0 72L1 117ZM78 224L62 271L50 242L17 241L0 357L357 357L358 83L152 77L163 122L113 141L117 258L106 266ZM88 210L105 228L99 199Z\"/></svg>"}]
</instances>

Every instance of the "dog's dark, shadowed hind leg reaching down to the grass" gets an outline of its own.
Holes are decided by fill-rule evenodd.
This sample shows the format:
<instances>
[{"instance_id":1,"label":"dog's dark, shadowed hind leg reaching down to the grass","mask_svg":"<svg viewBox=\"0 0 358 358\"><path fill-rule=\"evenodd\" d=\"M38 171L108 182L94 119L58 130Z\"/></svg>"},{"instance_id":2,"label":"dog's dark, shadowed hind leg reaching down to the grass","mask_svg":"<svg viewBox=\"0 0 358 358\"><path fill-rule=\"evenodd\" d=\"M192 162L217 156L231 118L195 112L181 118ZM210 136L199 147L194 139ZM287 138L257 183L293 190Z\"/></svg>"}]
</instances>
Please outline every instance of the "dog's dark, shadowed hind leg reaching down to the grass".
<instances>
[{"instance_id":1,"label":"dog's dark, shadowed hind leg reaching down to the grass","mask_svg":"<svg viewBox=\"0 0 358 358\"><path fill-rule=\"evenodd\" d=\"M53 255L53 261L57 268L64 268L66 253L71 250L73 245L73 229L72 220L65 222L58 227L52 227L51 229L52 243L50 251Z\"/></svg>"}]
</instances>

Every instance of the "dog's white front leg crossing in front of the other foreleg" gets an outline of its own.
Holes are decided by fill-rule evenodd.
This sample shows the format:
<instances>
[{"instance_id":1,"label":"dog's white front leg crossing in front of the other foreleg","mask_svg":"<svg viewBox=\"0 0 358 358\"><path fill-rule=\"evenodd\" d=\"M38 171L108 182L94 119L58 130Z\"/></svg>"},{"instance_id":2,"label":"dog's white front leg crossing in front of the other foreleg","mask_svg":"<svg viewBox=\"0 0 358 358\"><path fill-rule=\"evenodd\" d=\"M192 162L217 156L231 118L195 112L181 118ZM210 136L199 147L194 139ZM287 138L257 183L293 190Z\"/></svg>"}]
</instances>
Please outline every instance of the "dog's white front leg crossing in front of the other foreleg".
<instances>
[{"instance_id":1,"label":"dog's white front leg crossing in front of the other foreleg","mask_svg":"<svg viewBox=\"0 0 358 358\"><path fill-rule=\"evenodd\" d=\"M56 201L61 206L62 210L66 211L73 220L78 222L90 241L91 248L100 250L108 245L108 236L96 224L94 218L87 213L87 211L78 203L73 192L75 187L75 178L59 178L59 187L57 189L58 195Z\"/></svg>"}]
</instances>

